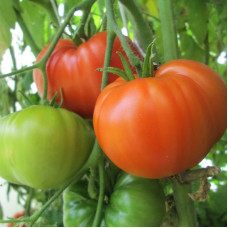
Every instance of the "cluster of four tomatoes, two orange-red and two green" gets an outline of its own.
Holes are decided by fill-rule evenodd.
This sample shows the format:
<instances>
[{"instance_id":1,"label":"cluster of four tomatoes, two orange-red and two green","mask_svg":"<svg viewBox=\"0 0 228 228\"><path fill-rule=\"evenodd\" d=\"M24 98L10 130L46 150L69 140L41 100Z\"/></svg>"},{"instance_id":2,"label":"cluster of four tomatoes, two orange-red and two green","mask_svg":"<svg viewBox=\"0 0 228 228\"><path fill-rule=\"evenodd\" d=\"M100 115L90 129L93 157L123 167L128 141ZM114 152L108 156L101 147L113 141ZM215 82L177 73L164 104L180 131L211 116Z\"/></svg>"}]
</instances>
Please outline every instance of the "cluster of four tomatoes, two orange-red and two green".
<instances>
[{"instance_id":1,"label":"cluster of four tomatoes, two orange-red and two green","mask_svg":"<svg viewBox=\"0 0 228 228\"><path fill-rule=\"evenodd\" d=\"M47 100L59 92L61 102L62 91L62 108L30 106L0 119L0 176L33 188L60 188L86 162L96 136L108 158L127 172L115 183L100 225L159 226L165 195L155 179L194 167L220 139L226 86L206 65L174 60L153 77L125 81L110 74L100 92L102 73L96 69L103 67L106 39L104 31L79 47L58 41L46 63ZM123 70L117 51L126 57L118 38L110 65ZM33 78L42 96L40 70ZM93 118L94 129L85 118ZM65 226L92 226L97 201L87 187L81 180L64 192Z\"/></svg>"}]
</instances>

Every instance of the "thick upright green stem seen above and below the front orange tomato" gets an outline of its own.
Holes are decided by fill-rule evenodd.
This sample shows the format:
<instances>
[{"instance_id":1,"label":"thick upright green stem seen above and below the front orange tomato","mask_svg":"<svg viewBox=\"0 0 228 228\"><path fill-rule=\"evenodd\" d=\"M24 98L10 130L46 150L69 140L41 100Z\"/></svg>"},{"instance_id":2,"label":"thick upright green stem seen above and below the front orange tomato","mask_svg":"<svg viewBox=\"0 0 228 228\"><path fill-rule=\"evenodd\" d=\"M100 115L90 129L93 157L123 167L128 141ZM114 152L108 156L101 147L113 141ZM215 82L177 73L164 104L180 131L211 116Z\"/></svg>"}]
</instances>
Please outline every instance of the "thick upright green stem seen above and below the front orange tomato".
<instances>
[{"instance_id":1,"label":"thick upright green stem seen above and below the front orange tomato","mask_svg":"<svg viewBox=\"0 0 228 228\"><path fill-rule=\"evenodd\" d=\"M168 62L178 58L177 33L175 30L172 0L158 0L161 19L164 59ZM194 202L188 193L190 184L180 184L177 180L172 181L173 194L179 218L179 226L196 226Z\"/></svg>"}]
</instances>

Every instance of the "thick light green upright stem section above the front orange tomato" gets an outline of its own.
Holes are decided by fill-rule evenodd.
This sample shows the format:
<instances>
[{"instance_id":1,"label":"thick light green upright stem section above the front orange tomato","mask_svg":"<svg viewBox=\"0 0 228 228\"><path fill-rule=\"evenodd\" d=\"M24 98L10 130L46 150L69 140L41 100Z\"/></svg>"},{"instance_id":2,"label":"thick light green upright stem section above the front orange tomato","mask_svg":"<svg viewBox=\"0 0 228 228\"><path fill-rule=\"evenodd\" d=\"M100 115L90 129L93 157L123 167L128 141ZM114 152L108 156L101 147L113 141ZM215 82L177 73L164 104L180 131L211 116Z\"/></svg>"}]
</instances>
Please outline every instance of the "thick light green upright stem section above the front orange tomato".
<instances>
[{"instance_id":1,"label":"thick light green upright stem section above the front orange tomato","mask_svg":"<svg viewBox=\"0 0 228 228\"><path fill-rule=\"evenodd\" d=\"M161 19L162 41L165 62L178 59L177 33L175 29L172 0L158 0Z\"/></svg>"}]
</instances>

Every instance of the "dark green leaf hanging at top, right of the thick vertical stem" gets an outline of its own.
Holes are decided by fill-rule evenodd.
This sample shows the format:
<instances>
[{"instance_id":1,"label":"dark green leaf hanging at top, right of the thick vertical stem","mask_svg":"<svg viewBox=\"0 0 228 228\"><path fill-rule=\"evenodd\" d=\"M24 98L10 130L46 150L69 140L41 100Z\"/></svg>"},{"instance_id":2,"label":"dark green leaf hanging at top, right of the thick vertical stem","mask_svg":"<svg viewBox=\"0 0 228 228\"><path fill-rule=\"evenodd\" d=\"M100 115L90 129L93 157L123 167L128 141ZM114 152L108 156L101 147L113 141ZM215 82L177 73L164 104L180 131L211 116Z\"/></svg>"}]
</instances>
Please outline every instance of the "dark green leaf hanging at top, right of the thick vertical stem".
<instances>
[{"instance_id":1,"label":"dark green leaf hanging at top, right of the thick vertical stem","mask_svg":"<svg viewBox=\"0 0 228 228\"><path fill-rule=\"evenodd\" d=\"M194 38L203 45L207 35L208 11L204 0L184 0L189 28Z\"/></svg>"}]
</instances>

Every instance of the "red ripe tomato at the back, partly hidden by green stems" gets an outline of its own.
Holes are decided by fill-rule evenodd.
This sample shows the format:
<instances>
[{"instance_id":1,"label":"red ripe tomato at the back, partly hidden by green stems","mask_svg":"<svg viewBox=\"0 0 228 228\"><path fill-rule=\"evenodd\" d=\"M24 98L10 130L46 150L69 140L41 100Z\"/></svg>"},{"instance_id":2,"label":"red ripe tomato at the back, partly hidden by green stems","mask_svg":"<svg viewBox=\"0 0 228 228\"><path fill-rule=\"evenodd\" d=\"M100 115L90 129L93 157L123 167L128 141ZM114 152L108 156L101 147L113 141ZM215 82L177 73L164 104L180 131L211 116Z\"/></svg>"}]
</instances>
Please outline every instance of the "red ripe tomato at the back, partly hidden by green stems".
<instances>
[{"instance_id":1,"label":"red ripe tomato at the back, partly hidden by green stems","mask_svg":"<svg viewBox=\"0 0 228 228\"><path fill-rule=\"evenodd\" d=\"M98 72L96 69L104 65L106 39L107 32L103 31L95 34L79 47L76 47L71 40L58 41L46 64L48 100L51 100L54 94L62 89L63 108L76 112L83 117L92 117L102 80L102 72ZM140 57L139 51L134 44L130 39L126 39L135 54ZM43 58L49 46L50 44L41 51L37 57L37 62ZM116 53L117 51L126 57L120 40L116 37L110 65L123 69L121 60ZM38 93L42 96L43 78L40 70L34 70L33 78L37 85ZM109 83L116 78L116 75L111 74ZM60 101L60 95L57 101Z\"/></svg>"}]
</instances>

